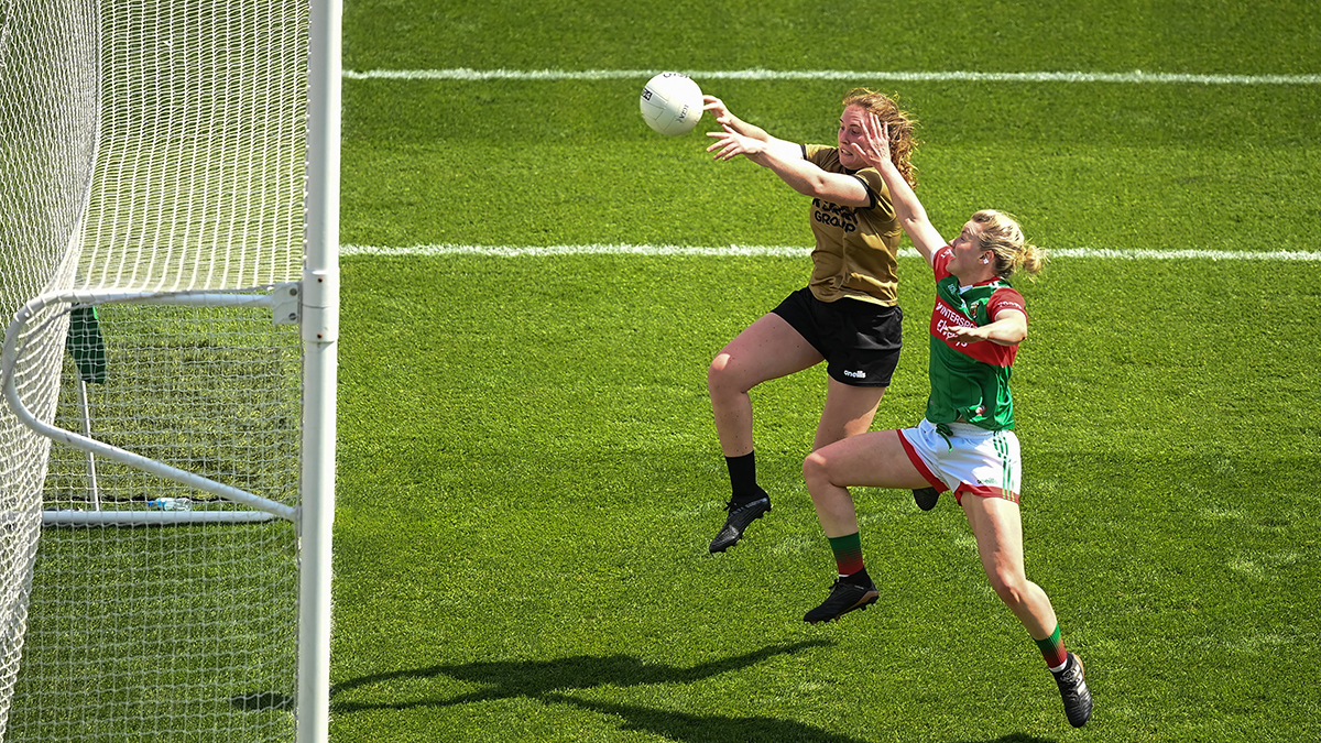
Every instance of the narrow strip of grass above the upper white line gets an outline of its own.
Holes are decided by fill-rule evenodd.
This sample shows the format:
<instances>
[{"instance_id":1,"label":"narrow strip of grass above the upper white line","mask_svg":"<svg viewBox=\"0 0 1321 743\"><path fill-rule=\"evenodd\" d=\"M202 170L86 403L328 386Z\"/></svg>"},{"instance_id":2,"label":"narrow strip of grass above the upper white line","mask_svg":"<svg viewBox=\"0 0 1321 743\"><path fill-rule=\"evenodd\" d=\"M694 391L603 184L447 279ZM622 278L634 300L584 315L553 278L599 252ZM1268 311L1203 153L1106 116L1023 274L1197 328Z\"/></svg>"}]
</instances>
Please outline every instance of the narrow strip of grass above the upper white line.
<instances>
[{"instance_id":1,"label":"narrow strip of grass above the upper white line","mask_svg":"<svg viewBox=\"0 0 1321 743\"><path fill-rule=\"evenodd\" d=\"M370 0L350 69L1316 73L1308 3Z\"/></svg>"}]
</instances>

